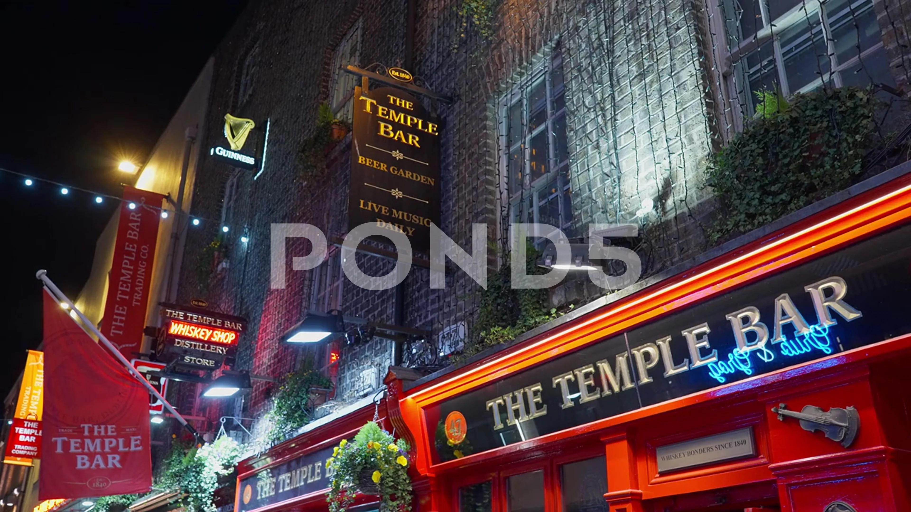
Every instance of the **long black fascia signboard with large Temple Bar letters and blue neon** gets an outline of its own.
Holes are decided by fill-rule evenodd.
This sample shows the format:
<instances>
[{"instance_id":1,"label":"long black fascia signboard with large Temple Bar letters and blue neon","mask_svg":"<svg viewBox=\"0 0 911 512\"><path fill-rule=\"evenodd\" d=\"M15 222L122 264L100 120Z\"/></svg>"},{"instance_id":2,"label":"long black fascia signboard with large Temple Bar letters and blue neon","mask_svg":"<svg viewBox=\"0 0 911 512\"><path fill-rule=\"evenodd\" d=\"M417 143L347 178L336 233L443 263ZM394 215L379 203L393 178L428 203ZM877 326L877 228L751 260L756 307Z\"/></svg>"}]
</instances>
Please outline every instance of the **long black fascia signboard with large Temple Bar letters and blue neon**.
<instances>
[{"instance_id":1,"label":"long black fascia signboard with large Temple Bar letters and blue neon","mask_svg":"<svg viewBox=\"0 0 911 512\"><path fill-rule=\"evenodd\" d=\"M426 423L443 462L906 333L911 224L430 407Z\"/></svg>"}]
</instances>

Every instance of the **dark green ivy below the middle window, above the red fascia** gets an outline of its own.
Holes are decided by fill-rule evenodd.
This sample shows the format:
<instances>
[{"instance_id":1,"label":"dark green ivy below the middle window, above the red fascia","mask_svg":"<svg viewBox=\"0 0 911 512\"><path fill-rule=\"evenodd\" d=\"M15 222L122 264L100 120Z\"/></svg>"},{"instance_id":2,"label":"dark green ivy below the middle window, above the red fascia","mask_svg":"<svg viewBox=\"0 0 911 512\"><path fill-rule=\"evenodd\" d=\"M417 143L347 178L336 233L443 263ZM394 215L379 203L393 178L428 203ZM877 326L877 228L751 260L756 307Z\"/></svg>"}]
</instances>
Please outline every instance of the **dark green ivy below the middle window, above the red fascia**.
<instances>
[{"instance_id":1,"label":"dark green ivy below the middle window, above the red fascia","mask_svg":"<svg viewBox=\"0 0 911 512\"><path fill-rule=\"evenodd\" d=\"M526 246L526 273L540 275L547 269L537 266L541 252L528 243ZM569 306L572 309L573 306ZM522 333L563 314L548 308L548 291L540 289L513 289L511 262L487 277L487 289L481 291L480 307L474 333L468 339L462 357L479 353L488 347L510 342Z\"/></svg>"}]
</instances>

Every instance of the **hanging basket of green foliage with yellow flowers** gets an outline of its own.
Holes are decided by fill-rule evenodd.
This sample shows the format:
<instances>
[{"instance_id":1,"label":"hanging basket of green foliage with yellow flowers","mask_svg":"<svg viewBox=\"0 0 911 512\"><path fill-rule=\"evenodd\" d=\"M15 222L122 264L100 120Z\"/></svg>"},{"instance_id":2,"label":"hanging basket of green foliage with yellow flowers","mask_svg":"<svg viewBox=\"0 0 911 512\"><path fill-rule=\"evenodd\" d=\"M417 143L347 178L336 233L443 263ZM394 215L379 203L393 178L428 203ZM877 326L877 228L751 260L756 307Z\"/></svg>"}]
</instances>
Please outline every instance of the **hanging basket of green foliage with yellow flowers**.
<instances>
[{"instance_id":1,"label":"hanging basket of green foliage with yellow flowers","mask_svg":"<svg viewBox=\"0 0 911 512\"><path fill-rule=\"evenodd\" d=\"M333 450L326 476L333 479L326 497L330 512L345 512L359 491L378 491L384 512L411 510L408 445L374 422L363 425L352 443L343 440Z\"/></svg>"}]
</instances>

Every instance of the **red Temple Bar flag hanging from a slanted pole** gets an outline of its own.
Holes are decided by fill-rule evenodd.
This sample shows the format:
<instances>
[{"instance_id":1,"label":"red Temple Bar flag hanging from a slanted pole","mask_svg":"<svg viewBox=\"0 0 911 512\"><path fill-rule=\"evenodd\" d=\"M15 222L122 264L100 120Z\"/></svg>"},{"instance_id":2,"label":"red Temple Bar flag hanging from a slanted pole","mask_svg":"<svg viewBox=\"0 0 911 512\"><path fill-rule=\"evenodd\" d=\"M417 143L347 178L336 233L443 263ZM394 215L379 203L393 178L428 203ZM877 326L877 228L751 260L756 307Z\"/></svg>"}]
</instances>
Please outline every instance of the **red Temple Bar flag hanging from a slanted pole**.
<instances>
[{"instance_id":1,"label":"red Temple Bar flag hanging from a slanted pole","mask_svg":"<svg viewBox=\"0 0 911 512\"><path fill-rule=\"evenodd\" d=\"M148 391L45 292L38 499L148 492Z\"/></svg>"}]
</instances>

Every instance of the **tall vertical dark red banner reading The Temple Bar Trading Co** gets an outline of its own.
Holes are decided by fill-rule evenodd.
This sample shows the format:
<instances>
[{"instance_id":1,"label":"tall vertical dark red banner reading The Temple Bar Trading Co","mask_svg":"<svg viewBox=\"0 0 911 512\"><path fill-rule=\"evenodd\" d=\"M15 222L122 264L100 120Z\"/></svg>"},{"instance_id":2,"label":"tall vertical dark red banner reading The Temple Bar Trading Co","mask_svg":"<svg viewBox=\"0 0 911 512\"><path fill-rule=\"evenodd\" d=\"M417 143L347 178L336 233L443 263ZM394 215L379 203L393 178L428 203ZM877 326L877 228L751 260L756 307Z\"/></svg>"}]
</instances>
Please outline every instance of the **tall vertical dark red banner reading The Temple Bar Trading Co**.
<instances>
[{"instance_id":1,"label":"tall vertical dark red banner reading The Temple Bar Trading Co","mask_svg":"<svg viewBox=\"0 0 911 512\"><path fill-rule=\"evenodd\" d=\"M161 194L148 190L123 189L101 333L127 359L141 349L162 199Z\"/></svg>"}]
</instances>

